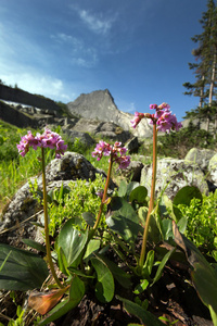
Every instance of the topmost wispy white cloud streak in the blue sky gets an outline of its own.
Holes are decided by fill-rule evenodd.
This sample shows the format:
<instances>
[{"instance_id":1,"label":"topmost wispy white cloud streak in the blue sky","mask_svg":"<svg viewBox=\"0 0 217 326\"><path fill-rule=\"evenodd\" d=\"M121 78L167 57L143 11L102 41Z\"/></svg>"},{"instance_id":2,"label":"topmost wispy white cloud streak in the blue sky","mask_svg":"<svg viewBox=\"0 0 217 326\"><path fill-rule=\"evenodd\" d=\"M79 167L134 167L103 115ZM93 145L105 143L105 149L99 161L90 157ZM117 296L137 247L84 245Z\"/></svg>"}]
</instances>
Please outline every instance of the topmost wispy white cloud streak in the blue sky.
<instances>
[{"instance_id":1,"label":"topmost wispy white cloud streak in the blue sky","mask_svg":"<svg viewBox=\"0 0 217 326\"><path fill-rule=\"evenodd\" d=\"M94 33L105 35L110 32L116 16L106 17L102 13L90 13L87 10L77 10L81 21Z\"/></svg>"}]
</instances>

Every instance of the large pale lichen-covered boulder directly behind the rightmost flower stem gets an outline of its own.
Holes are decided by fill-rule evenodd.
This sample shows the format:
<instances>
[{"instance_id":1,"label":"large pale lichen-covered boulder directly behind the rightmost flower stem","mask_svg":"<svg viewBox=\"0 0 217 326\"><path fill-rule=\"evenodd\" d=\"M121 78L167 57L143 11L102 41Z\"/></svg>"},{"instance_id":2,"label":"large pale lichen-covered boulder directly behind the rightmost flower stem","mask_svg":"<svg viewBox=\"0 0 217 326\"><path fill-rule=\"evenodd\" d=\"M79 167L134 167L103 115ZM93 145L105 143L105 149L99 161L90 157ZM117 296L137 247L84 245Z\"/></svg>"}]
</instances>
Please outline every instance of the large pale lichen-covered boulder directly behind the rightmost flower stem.
<instances>
[{"instance_id":1,"label":"large pale lichen-covered boulder directly behind the rightmost flower stem","mask_svg":"<svg viewBox=\"0 0 217 326\"><path fill-rule=\"evenodd\" d=\"M142 168L140 184L145 186L149 195L152 181L152 165ZM184 186L195 186L201 192L208 193L205 175L199 165L187 164L184 160L162 159L157 162L156 196L162 191L171 200Z\"/></svg>"}]
</instances>

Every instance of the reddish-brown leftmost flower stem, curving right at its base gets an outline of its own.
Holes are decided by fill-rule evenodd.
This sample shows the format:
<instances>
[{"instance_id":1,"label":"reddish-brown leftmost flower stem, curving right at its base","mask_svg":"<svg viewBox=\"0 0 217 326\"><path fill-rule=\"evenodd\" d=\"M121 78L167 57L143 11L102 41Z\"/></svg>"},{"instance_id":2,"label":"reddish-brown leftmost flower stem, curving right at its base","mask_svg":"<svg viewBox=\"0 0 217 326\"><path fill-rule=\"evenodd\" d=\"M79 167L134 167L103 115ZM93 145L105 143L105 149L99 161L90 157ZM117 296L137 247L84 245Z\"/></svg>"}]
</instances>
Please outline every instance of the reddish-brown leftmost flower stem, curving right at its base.
<instances>
[{"instance_id":1,"label":"reddish-brown leftmost flower stem, curving right at its base","mask_svg":"<svg viewBox=\"0 0 217 326\"><path fill-rule=\"evenodd\" d=\"M63 285L59 280L55 269L53 266L53 261L51 256L50 239L49 239L49 225L48 225L48 201L47 201L47 187L46 187L46 160L44 160L44 150L41 147L41 158L42 158L42 184L43 184L43 214L44 214L44 235L46 235L46 251L47 259L50 265L51 274L56 281L59 288L63 288Z\"/></svg>"}]
</instances>

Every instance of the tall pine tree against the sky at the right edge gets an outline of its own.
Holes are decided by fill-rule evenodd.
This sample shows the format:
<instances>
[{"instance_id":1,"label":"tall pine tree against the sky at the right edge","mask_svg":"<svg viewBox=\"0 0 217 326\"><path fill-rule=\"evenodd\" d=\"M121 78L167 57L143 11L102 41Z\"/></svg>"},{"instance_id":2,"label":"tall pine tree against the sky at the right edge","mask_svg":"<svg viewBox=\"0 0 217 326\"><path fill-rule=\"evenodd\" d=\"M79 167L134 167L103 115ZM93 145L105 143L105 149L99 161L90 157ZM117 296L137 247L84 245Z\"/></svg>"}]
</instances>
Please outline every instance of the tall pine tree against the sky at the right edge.
<instances>
[{"instance_id":1,"label":"tall pine tree against the sky at the right edge","mask_svg":"<svg viewBox=\"0 0 217 326\"><path fill-rule=\"evenodd\" d=\"M195 73L195 83L184 83L186 95L199 97L199 106L187 112L187 116L199 120L206 118L206 130L209 129L212 120L216 120L217 106L214 100L217 96L217 5L214 0L207 1L207 11L202 14L203 32L195 35L192 40L197 48L192 51L195 63L189 63L189 68ZM215 121L215 126L217 123Z\"/></svg>"}]
</instances>

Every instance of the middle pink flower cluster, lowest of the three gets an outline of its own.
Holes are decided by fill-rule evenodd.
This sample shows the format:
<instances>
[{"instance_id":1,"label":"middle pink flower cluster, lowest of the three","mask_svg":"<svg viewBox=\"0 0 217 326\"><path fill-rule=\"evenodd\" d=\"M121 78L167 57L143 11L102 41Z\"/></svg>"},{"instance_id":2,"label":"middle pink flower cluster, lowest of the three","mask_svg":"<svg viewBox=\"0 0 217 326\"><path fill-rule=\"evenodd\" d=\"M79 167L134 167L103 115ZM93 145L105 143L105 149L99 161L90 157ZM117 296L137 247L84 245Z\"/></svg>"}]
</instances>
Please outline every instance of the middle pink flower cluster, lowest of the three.
<instances>
[{"instance_id":1,"label":"middle pink flower cluster, lowest of the three","mask_svg":"<svg viewBox=\"0 0 217 326\"><path fill-rule=\"evenodd\" d=\"M114 146L100 140L97 145L94 151L92 152L92 156L97 158L98 161L102 159L102 156L111 156L112 162L116 162L119 166L118 168L126 168L130 163L130 156L125 155L127 149L122 147L122 142L116 141Z\"/></svg>"}]
</instances>

